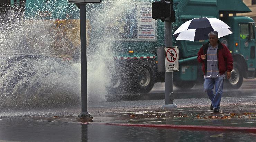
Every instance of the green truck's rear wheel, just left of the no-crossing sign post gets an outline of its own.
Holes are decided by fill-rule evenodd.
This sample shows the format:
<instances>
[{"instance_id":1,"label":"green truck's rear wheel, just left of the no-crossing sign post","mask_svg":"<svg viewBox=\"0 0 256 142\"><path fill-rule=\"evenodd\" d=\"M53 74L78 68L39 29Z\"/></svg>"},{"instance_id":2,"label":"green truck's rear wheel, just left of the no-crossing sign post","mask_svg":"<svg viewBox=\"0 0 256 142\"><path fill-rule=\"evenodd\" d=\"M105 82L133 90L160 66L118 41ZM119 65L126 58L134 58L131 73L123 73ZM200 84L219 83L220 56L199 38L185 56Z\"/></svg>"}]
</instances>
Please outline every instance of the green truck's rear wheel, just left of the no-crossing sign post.
<instances>
[{"instance_id":1,"label":"green truck's rear wheel, just left of the no-crossing sign post","mask_svg":"<svg viewBox=\"0 0 256 142\"><path fill-rule=\"evenodd\" d=\"M152 70L147 67L138 69L136 78L134 78L135 89L137 93L148 93L155 84Z\"/></svg>"}]
</instances>

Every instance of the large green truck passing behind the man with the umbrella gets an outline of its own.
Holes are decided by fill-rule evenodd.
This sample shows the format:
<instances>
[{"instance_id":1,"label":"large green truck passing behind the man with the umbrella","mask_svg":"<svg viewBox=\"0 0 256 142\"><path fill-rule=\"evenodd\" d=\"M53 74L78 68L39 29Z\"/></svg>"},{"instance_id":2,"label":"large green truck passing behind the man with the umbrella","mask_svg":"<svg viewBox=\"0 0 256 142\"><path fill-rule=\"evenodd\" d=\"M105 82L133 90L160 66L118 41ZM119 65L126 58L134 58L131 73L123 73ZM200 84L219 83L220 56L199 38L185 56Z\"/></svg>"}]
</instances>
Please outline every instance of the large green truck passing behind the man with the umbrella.
<instances>
[{"instance_id":1,"label":"large green truck passing behind the man with the umbrella","mask_svg":"<svg viewBox=\"0 0 256 142\"><path fill-rule=\"evenodd\" d=\"M141 5L145 6L145 4ZM231 27L233 34L219 39L227 45L234 59L231 79L226 80L225 87L238 89L243 83L243 78L255 77L254 20L249 17L236 16L237 13L251 12L243 1L174 0L173 8L176 11L176 19L172 26L173 32L184 22L201 16L219 18ZM139 6L137 6L137 10L140 11L139 13L146 11L145 9L141 10ZM150 13L148 12L148 14ZM141 15L138 14L137 17L141 17ZM144 18L147 19L148 17ZM137 18L138 23L139 20L141 19ZM123 76L113 79L113 87L110 90L120 91L120 88L125 88L126 91L147 93L152 89L155 82L164 82L164 72L158 72L157 70L156 54L157 47L164 47L164 22L158 20L156 27L152 25L154 24L149 23L147 26L150 27L148 29L155 30L150 33L154 36L155 41L154 39L152 41L126 40L121 43L120 48L122 47L123 52L119 51L117 53L120 57L118 63L127 66L121 71L121 67L118 67L121 72L118 75ZM141 26L137 27L137 31L144 29ZM189 89L197 82L203 82L201 64L196 60L202 41L175 41L174 38L172 40L173 46L179 47L180 54L180 71L173 72L174 85L178 88ZM204 43L206 42L207 40ZM132 53L128 53L129 51L132 51Z\"/></svg>"}]
</instances>

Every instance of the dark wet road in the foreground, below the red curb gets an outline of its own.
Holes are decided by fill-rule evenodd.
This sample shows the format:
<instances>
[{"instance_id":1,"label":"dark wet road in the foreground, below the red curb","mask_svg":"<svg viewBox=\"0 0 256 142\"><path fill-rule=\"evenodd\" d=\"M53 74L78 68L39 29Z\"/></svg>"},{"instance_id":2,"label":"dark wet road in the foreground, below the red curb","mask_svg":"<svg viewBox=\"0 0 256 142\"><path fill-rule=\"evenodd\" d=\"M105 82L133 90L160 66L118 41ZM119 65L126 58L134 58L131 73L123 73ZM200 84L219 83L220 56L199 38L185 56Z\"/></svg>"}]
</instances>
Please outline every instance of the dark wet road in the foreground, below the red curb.
<instances>
[{"instance_id":1,"label":"dark wet road in the foreground, below the red curb","mask_svg":"<svg viewBox=\"0 0 256 142\"><path fill-rule=\"evenodd\" d=\"M23 119L4 120L0 142L192 142L247 141L255 134L243 132L189 131L148 127L109 126L98 124L42 122ZM19 123L16 128L10 123Z\"/></svg>"}]
</instances>

